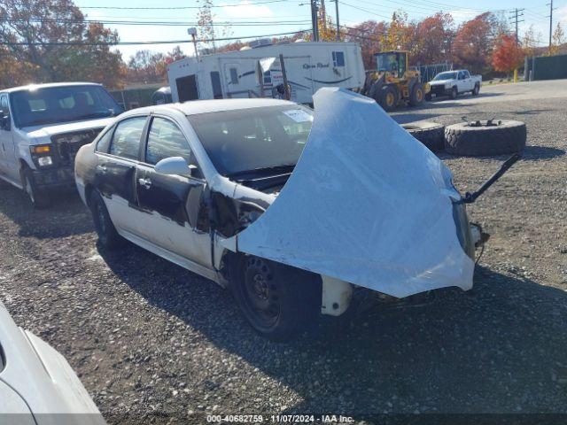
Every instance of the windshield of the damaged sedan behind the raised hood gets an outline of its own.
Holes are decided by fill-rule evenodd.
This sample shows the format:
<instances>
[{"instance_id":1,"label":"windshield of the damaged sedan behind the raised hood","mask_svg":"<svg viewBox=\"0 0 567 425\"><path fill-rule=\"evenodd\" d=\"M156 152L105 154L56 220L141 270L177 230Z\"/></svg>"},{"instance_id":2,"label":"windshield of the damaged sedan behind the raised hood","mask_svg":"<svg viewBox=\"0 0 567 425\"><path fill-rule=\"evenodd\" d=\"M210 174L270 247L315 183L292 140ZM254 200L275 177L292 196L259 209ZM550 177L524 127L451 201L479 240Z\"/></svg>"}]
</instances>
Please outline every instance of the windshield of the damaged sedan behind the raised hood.
<instances>
[{"instance_id":1,"label":"windshield of the damaged sedan behind the raised hood","mask_svg":"<svg viewBox=\"0 0 567 425\"><path fill-rule=\"evenodd\" d=\"M313 111L299 104L188 116L217 171L226 176L295 166Z\"/></svg>"}]
</instances>

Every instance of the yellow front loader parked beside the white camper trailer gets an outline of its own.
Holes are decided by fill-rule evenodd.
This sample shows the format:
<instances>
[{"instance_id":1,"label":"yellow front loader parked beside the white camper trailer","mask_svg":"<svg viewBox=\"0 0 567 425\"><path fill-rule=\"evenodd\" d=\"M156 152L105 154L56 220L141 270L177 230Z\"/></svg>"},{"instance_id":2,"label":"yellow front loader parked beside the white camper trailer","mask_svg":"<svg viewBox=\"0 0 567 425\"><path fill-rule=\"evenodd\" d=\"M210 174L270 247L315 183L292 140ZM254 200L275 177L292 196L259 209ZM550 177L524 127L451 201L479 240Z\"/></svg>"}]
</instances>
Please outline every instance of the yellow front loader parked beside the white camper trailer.
<instances>
[{"instance_id":1,"label":"yellow front loader parked beside the white camper trailer","mask_svg":"<svg viewBox=\"0 0 567 425\"><path fill-rule=\"evenodd\" d=\"M385 111L400 104L417 106L429 93L428 83L422 84L419 71L408 66L408 51L384 51L374 55L376 71L366 74L361 94L372 97Z\"/></svg>"}]
</instances>

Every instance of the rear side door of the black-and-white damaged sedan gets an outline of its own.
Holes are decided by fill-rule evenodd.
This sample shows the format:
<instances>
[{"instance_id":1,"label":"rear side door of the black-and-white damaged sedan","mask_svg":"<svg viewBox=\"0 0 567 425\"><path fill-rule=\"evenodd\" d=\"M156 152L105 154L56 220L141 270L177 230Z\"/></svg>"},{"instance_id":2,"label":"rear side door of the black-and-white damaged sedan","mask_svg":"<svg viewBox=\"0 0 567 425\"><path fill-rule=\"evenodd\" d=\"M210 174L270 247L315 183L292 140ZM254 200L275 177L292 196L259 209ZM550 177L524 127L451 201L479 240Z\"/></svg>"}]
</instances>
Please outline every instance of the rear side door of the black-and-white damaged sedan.
<instances>
[{"instance_id":1,"label":"rear side door of the black-and-white damaged sedan","mask_svg":"<svg viewBox=\"0 0 567 425\"><path fill-rule=\"evenodd\" d=\"M138 234L136 164L147 116L120 120L96 147L95 186L116 228Z\"/></svg>"}]
</instances>

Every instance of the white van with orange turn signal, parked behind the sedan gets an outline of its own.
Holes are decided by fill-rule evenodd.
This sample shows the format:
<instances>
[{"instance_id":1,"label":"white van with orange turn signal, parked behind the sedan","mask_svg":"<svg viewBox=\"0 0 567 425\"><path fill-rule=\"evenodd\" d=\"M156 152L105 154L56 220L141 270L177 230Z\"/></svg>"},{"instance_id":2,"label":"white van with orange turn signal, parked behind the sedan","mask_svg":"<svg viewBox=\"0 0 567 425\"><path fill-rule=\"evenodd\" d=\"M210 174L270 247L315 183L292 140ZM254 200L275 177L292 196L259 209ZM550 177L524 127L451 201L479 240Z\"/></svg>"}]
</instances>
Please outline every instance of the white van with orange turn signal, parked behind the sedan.
<instances>
[{"instance_id":1,"label":"white van with orange turn signal, parked behind the sedan","mask_svg":"<svg viewBox=\"0 0 567 425\"><path fill-rule=\"evenodd\" d=\"M36 208L53 189L74 188L74 156L122 108L100 85L36 84L0 91L0 179Z\"/></svg>"}]
</instances>

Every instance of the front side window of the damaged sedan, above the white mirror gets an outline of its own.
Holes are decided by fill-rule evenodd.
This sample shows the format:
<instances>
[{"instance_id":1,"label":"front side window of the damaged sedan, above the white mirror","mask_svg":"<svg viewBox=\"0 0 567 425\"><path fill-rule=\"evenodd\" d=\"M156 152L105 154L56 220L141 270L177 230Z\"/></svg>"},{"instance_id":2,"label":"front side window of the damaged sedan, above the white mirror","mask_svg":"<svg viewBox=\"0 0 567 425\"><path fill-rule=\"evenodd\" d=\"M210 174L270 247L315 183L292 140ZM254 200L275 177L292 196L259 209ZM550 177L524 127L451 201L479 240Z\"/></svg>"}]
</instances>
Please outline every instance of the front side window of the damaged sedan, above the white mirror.
<instances>
[{"instance_id":1,"label":"front side window of the damaged sedan, above the white mirror","mask_svg":"<svg viewBox=\"0 0 567 425\"><path fill-rule=\"evenodd\" d=\"M181 130L170 120L156 117L151 121L145 162L155 166L161 159L182 157L191 163L189 143Z\"/></svg>"}]
</instances>

